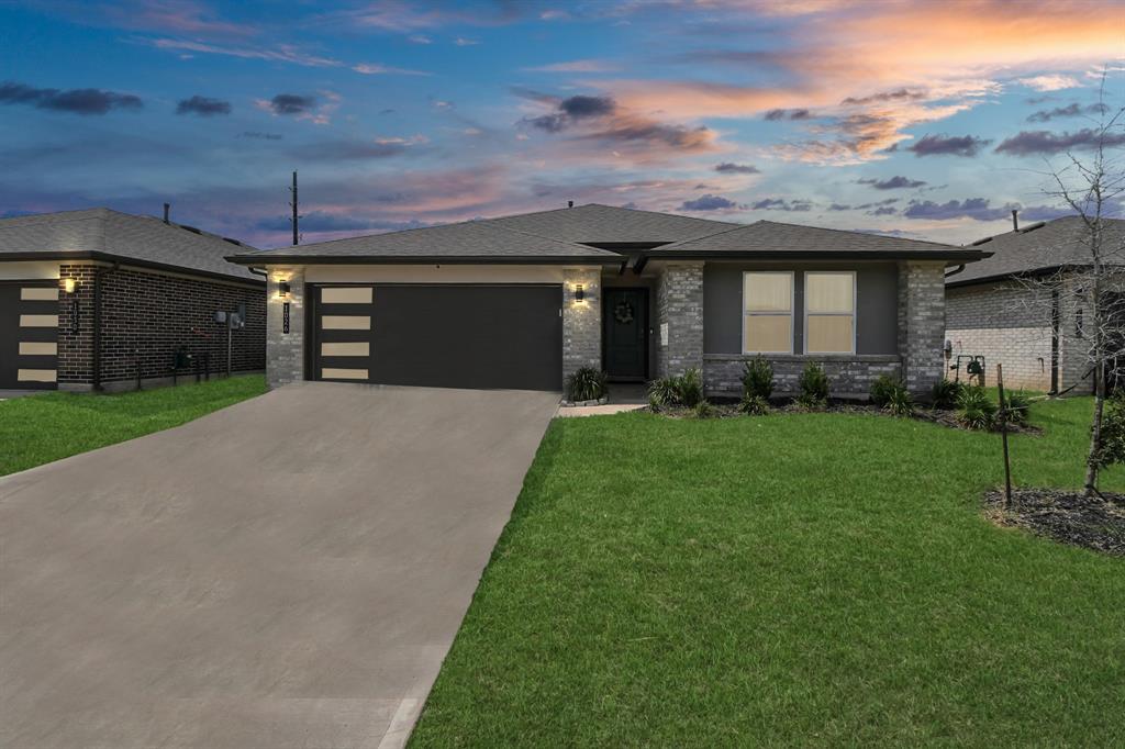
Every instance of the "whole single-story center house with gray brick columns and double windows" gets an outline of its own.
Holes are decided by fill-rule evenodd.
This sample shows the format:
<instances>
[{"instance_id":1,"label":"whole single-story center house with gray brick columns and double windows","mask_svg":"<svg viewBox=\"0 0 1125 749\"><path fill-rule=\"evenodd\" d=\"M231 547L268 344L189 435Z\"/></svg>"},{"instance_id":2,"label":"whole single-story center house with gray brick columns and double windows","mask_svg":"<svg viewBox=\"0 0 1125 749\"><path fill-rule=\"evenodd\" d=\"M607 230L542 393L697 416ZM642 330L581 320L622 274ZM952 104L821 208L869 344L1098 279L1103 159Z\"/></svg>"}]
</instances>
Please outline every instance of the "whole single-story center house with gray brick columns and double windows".
<instances>
[{"instance_id":1,"label":"whole single-story center house with gray brick columns and double windows","mask_svg":"<svg viewBox=\"0 0 1125 749\"><path fill-rule=\"evenodd\" d=\"M587 205L232 255L267 269L271 386L340 380L559 390L579 367L701 368L740 391L809 361L838 395L944 371L946 267L976 249Z\"/></svg>"}]
</instances>

